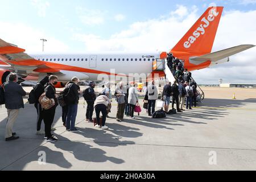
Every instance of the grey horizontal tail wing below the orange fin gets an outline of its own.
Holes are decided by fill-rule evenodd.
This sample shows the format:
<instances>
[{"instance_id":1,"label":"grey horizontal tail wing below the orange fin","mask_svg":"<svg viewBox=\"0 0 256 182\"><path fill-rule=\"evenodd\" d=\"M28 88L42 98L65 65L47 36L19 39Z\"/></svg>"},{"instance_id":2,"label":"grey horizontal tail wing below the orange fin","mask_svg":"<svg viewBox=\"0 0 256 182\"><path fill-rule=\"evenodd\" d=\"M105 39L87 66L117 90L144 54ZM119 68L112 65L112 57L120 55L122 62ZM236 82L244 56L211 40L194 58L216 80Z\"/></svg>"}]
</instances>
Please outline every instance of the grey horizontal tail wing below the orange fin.
<instances>
[{"instance_id":1,"label":"grey horizontal tail wing below the orange fin","mask_svg":"<svg viewBox=\"0 0 256 182\"><path fill-rule=\"evenodd\" d=\"M217 52L209 53L207 55L198 56L198 57L192 57L190 59L190 61L191 61L191 63L195 63L197 61L199 61L199 62L203 62L203 61L216 62L216 61L225 59L225 58L227 58L229 56L235 55L236 53L245 51L245 50L247 50L249 48L252 48L252 47L255 47L255 46L254 45L250 45L250 44L240 45L240 46L224 49L222 51L217 51Z\"/></svg>"}]
</instances>

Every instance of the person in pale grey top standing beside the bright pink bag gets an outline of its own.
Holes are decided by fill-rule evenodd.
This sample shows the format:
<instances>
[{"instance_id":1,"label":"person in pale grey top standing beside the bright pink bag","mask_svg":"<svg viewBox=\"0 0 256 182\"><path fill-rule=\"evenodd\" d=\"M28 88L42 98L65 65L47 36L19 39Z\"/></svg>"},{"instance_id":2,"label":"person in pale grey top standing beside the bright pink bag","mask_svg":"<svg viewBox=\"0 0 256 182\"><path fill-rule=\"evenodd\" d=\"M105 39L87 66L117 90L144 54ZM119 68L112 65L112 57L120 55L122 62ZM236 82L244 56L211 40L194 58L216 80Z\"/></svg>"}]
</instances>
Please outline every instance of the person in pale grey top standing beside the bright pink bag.
<instances>
[{"instance_id":1,"label":"person in pale grey top standing beside the bright pink bag","mask_svg":"<svg viewBox=\"0 0 256 182\"><path fill-rule=\"evenodd\" d=\"M135 119L135 117L134 117L134 109L135 109L136 104L139 102L138 90L137 90L138 84L133 83L131 85L132 86L129 89L128 104L130 106L130 118Z\"/></svg>"}]
</instances>

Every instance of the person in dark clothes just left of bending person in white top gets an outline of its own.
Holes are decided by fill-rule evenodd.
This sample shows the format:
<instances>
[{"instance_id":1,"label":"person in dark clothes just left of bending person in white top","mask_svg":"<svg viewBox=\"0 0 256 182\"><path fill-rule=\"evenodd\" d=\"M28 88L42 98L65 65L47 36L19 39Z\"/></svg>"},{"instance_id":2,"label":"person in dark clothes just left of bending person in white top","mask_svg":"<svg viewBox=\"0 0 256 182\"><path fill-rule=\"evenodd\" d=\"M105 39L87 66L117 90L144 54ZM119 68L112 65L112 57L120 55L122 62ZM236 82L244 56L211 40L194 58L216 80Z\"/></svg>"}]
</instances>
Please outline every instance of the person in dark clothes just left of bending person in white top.
<instances>
[{"instance_id":1,"label":"person in dark clothes just left of bending person in white top","mask_svg":"<svg viewBox=\"0 0 256 182\"><path fill-rule=\"evenodd\" d=\"M94 101L96 100L96 94L94 91L95 88L95 82L90 81L89 88L85 89L83 93L83 97L87 103L87 109L86 109L86 121L93 122L92 116L93 116L93 110L94 110Z\"/></svg>"}]
</instances>

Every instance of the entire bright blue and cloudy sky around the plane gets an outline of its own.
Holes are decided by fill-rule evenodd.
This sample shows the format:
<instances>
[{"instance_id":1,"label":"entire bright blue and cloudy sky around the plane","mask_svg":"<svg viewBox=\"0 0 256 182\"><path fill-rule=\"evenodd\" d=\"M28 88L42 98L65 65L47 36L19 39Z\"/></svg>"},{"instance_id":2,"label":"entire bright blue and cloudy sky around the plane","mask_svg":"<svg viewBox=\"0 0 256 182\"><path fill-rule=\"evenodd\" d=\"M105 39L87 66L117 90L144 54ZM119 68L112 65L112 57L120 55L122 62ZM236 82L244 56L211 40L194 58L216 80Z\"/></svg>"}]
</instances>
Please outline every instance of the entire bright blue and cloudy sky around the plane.
<instances>
[{"instance_id":1,"label":"entire bright blue and cloudy sky around the plane","mask_svg":"<svg viewBox=\"0 0 256 182\"><path fill-rule=\"evenodd\" d=\"M46 53L169 51L210 3L224 6L213 51L256 44L256 0L0 0L0 38L27 53L42 53L41 38ZM195 72L199 83L218 77L256 83L255 48Z\"/></svg>"}]
</instances>

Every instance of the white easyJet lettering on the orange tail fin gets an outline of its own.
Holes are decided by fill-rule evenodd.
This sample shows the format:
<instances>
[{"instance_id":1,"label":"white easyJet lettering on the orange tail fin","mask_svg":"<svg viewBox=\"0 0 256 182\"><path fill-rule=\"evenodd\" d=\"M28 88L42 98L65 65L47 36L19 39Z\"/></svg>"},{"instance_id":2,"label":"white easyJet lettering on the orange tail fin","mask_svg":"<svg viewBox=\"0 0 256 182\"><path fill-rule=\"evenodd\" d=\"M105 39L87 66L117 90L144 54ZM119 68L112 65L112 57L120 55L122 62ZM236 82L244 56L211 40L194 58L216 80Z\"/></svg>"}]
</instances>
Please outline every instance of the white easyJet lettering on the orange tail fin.
<instances>
[{"instance_id":1,"label":"white easyJet lettering on the orange tail fin","mask_svg":"<svg viewBox=\"0 0 256 182\"><path fill-rule=\"evenodd\" d=\"M184 47L191 47L191 45L196 42L196 39L199 38L200 35L204 35L206 28L209 27L210 23L213 22L218 14L219 13L216 12L216 8L210 9L208 16L201 19L200 26L197 27L196 31L193 32L193 35L189 36L188 40L184 42Z\"/></svg>"}]
</instances>

